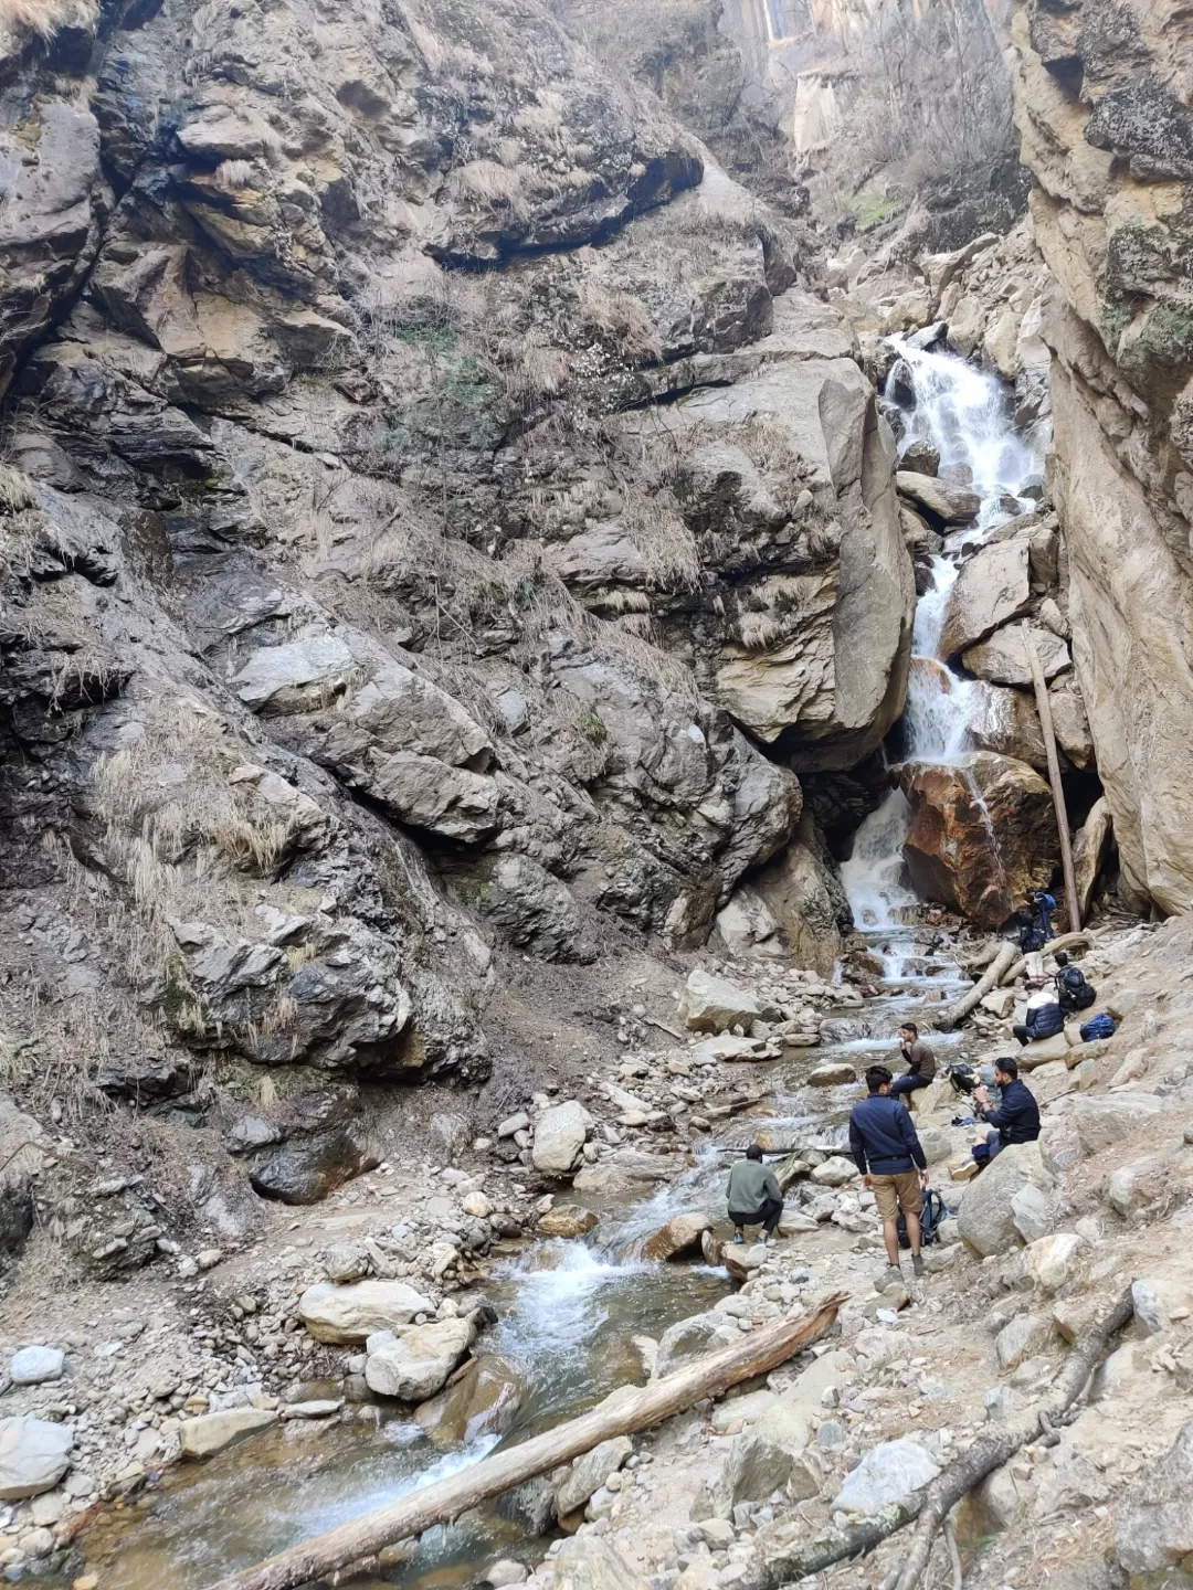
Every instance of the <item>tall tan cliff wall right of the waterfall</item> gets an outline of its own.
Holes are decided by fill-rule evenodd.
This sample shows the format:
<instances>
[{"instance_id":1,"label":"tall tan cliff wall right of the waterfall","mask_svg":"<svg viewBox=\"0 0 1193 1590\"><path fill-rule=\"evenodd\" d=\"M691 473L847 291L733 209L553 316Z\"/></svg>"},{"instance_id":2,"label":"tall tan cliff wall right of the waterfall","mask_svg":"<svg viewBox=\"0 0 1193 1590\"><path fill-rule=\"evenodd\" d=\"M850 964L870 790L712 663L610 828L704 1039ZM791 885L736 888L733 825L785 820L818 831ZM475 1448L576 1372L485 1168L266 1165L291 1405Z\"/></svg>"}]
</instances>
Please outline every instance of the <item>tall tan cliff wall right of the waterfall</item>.
<instances>
[{"instance_id":1,"label":"tall tan cliff wall right of the waterfall","mask_svg":"<svg viewBox=\"0 0 1193 1590\"><path fill-rule=\"evenodd\" d=\"M1055 493L1074 660L1125 884L1193 905L1193 122L1171 6L1023 5L1016 124L1056 288Z\"/></svg>"}]
</instances>

